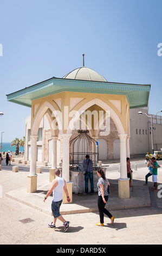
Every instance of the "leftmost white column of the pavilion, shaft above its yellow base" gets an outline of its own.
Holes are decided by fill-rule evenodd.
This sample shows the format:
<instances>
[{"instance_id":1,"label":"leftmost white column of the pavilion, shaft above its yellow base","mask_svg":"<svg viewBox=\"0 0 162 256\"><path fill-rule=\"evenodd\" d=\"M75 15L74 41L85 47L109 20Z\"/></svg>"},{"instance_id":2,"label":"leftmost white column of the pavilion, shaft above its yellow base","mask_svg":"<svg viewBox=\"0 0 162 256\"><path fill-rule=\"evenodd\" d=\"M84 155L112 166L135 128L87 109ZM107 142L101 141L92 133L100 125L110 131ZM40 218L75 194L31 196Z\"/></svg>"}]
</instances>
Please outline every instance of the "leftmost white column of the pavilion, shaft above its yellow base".
<instances>
[{"instance_id":1,"label":"leftmost white column of the pavilion, shaft above its yellow base","mask_svg":"<svg viewBox=\"0 0 162 256\"><path fill-rule=\"evenodd\" d=\"M31 138L31 155L30 155L30 174L36 175L36 159L37 159L37 138L38 136L30 135Z\"/></svg>"}]
</instances>

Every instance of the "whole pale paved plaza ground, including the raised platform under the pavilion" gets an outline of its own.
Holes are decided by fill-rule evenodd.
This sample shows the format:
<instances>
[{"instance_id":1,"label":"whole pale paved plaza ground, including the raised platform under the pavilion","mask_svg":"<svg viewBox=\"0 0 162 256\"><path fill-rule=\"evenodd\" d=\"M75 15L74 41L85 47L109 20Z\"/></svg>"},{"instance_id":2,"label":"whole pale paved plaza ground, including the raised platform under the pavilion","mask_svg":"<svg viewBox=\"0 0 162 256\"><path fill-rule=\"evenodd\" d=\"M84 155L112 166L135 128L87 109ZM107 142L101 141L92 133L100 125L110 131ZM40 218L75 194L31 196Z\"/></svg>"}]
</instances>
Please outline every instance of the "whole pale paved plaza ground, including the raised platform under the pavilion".
<instances>
[{"instance_id":1,"label":"whole pale paved plaza ground, including the raised platform under the pavilion","mask_svg":"<svg viewBox=\"0 0 162 256\"><path fill-rule=\"evenodd\" d=\"M158 170L158 184L162 184L162 161ZM99 212L97 193L73 196L72 204L61 205L63 217L70 221L67 233L57 220L56 229L48 228L53 221L51 196L43 202L49 183L49 169L37 174L37 192L27 193L29 167L18 164L18 172L12 166L0 170L0 244L1 245L161 245L162 185L159 192L152 191L152 177L143 186L148 168L144 160L132 161L133 188L130 199L118 198L119 163L109 163L106 176L111 184L107 209L115 217L114 224L105 216L104 227L97 227ZM134 170L137 164L137 170ZM160 192L161 190L161 192Z\"/></svg>"}]
</instances>

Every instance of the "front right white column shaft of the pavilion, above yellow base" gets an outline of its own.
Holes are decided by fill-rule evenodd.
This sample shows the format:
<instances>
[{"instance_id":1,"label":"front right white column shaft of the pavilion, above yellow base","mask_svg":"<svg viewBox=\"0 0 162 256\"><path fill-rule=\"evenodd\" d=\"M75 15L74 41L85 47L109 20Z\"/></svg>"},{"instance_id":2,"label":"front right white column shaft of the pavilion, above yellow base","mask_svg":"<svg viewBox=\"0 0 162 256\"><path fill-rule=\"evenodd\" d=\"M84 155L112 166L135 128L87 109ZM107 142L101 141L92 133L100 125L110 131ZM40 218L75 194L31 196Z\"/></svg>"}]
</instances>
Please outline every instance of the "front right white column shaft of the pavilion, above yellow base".
<instances>
[{"instance_id":1,"label":"front right white column shaft of the pavilion, above yellow base","mask_svg":"<svg viewBox=\"0 0 162 256\"><path fill-rule=\"evenodd\" d=\"M126 138L127 134L119 134L120 138L120 179L127 179L127 153Z\"/></svg>"}]
</instances>

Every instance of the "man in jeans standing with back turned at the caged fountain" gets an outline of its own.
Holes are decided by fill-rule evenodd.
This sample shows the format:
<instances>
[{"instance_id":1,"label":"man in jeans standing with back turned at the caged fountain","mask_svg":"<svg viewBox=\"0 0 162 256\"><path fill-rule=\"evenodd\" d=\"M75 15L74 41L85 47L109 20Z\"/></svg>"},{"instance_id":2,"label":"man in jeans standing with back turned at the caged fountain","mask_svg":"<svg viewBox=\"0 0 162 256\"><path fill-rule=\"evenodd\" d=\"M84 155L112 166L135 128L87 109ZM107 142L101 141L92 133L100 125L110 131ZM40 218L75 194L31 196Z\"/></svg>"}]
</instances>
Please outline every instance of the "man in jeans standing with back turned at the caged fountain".
<instances>
[{"instance_id":1,"label":"man in jeans standing with back turned at the caged fountain","mask_svg":"<svg viewBox=\"0 0 162 256\"><path fill-rule=\"evenodd\" d=\"M94 194L94 184L93 184L93 162L89 159L89 155L86 155L86 160L83 161L83 167L85 169L85 194L88 194L88 180L90 180L90 190Z\"/></svg>"}]
</instances>

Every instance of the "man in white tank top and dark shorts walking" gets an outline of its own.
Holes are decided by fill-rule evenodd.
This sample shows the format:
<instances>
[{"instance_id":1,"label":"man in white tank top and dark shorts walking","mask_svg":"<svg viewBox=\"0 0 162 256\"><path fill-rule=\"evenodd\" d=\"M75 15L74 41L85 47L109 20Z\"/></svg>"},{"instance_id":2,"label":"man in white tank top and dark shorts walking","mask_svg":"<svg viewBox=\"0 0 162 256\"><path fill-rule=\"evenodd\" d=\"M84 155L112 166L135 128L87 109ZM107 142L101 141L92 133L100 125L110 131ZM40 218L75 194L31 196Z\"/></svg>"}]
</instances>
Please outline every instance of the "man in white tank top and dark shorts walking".
<instances>
[{"instance_id":1,"label":"man in white tank top and dark shorts walking","mask_svg":"<svg viewBox=\"0 0 162 256\"><path fill-rule=\"evenodd\" d=\"M50 196L51 192L53 192L53 200L51 203L51 210L53 212L54 216L54 221L51 222L51 224L48 224L49 228L56 228L56 220L57 218L63 222L64 225L64 232L68 230L69 221L64 220L62 215L60 214L60 206L62 204L62 191L64 189L64 192L66 193L67 196L67 201L70 202L70 197L68 194L67 186L66 186L66 181L60 177L60 170L55 169L55 176L56 178L52 181L52 185L49 189L49 191L46 194L46 197L44 197L44 202L46 202L46 199Z\"/></svg>"}]
</instances>

